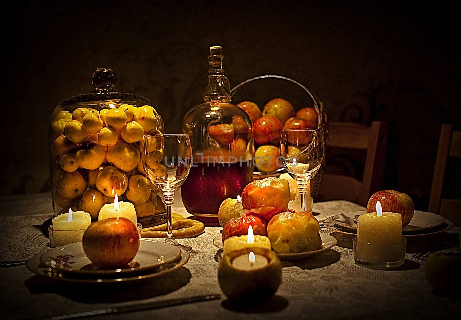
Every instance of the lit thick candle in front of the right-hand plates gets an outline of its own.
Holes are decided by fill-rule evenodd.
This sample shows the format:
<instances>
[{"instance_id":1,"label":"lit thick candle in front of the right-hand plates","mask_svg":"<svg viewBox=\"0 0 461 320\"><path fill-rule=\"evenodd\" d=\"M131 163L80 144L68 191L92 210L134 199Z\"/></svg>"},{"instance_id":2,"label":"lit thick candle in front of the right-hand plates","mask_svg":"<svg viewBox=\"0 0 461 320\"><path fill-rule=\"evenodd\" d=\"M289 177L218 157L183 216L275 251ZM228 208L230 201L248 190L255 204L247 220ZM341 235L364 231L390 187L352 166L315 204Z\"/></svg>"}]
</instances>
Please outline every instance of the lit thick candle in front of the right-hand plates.
<instances>
[{"instance_id":1,"label":"lit thick candle in front of the right-hand plates","mask_svg":"<svg viewBox=\"0 0 461 320\"><path fill-rule=\"evenodd\" d=\"M402 217L394 212L376 212L359 216L357 237L353 240L355 263L369 268L394 268L405 260L406 239L402 238Z\"/></svg>"}]
</instances>

